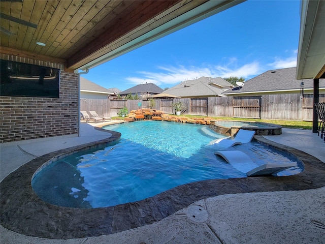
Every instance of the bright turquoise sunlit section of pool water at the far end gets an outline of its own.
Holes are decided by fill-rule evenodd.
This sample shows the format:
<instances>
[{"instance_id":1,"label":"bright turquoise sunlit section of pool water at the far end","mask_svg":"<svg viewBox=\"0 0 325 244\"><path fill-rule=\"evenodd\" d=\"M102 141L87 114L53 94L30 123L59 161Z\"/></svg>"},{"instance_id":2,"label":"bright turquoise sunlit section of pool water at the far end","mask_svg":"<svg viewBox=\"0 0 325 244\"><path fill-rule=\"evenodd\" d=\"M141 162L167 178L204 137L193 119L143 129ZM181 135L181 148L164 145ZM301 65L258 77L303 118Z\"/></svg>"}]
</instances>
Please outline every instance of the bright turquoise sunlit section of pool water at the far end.
<instances>
[{"instance_id":1,"label":"bright turquoise sunlit section of pool water at the far end","mask_svg":"<svg viewBox=\"0 0 325 244\"><path fill-rule=\"evenodd\" d=\"M137 121L104 129L120 132L121 138L144 147L185 159L195 155L211 140L225 137L206 126L167 121Z\"/></svg>"}]
</instances>

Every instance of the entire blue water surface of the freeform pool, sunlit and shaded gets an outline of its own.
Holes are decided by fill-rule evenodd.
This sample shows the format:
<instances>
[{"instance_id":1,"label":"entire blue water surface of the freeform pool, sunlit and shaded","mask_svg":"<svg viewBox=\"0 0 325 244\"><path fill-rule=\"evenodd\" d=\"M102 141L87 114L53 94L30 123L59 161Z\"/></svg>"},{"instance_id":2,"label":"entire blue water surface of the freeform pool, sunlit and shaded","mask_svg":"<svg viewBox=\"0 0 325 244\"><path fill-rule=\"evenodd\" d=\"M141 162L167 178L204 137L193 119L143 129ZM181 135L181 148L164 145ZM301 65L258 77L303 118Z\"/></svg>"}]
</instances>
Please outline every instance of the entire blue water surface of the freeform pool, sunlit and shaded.
<instances>
[{"instance_id":1,"label":"entire blue water surface of the freeform pool, sunlit and shaded","mask_svg":"<svg viewBox=\"0 0 325 244\"><path fill-rule=\"evenodd\" d=\"M224 136L207 126L137 121L106 129L120 132L121 140L53 162L35 175L32 187L41 199L69 207L106 207L142 200L188 182L246 177L214 155L225 148L212 142ZM242 150L257 164L296 161L258 143L226 150ZM300 167L291 168L282 175L300 171Z\"/></svg>"}]
</instances>

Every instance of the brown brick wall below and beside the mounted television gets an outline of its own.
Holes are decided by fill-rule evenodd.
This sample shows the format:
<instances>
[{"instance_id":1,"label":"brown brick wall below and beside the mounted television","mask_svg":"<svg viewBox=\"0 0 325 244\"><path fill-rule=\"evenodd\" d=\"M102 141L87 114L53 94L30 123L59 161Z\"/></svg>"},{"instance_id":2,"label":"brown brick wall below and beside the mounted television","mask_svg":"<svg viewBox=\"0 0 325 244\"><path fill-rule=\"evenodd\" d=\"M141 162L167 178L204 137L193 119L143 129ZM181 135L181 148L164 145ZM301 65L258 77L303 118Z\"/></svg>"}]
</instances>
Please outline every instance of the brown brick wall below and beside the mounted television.
<instances>
[{"instance_id":1,"label":"brown brick wall below and beside the mounted television","mask_svg":"<svg viewBox=\"0 0 325 244\"><path fill-rule=\"evenodd\" d=\"M0 97L0 142L78 133L78 75L60 71L59 98Z\"/></svg>"}]
</instances>

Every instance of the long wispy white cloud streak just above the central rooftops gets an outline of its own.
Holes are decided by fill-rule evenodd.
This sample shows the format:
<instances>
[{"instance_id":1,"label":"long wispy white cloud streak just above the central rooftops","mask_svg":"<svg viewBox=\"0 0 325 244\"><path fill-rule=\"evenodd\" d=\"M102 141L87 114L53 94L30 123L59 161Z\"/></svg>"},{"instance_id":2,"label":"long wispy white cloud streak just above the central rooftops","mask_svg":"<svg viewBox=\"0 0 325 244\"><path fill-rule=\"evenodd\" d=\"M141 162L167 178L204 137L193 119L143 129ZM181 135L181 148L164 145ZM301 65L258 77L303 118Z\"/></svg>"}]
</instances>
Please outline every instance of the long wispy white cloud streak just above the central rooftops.
<instances>
[{"instance_id":1,"label":"long wispy white cloud streak just above the central rooftops","mask_svg":"<svg viewBox=\"0 0 325 244\"><path fill-rule=\"evenodd\" d=\"M250 64L243 65L239 68L231 68L235 66L234 64L235 58L232 58L231 62L225 66L206 66L204 68L200 67L157 67L161 72L147 72L141 71L139 72L139 77L127 77L126 80L133 84L141 84L141 83L154 83L159 86L173 86L178 82L184 80L192 80L197 79L202 76L205 77L230 77L230 76L243 76L244 78L249 78L254 75L258 75L261 73L261 67L258 62L253 62Z\"/></svg>"}]
</instances>

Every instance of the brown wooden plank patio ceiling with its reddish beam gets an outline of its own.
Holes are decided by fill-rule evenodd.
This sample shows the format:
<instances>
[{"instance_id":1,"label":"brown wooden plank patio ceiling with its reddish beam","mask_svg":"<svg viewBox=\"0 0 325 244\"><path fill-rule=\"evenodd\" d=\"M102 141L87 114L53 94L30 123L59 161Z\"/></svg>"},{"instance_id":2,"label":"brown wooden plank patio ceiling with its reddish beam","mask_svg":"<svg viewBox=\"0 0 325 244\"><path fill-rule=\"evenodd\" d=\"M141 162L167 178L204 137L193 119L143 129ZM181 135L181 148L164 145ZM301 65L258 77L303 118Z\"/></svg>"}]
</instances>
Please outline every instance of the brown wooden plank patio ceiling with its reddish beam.
<instances>
[{"instance_id":1,"label":"brown wooden plank patio ceiling with its reddish beam","mask_svg":"<svg viewBox=\"0 0 325 244\"><path fill-rule=\"evenodd\" d=\"M1 52L63 60L75 70L206 2L1 1Z\"/></svg>"}]
</instances>

